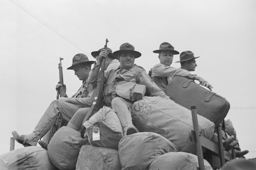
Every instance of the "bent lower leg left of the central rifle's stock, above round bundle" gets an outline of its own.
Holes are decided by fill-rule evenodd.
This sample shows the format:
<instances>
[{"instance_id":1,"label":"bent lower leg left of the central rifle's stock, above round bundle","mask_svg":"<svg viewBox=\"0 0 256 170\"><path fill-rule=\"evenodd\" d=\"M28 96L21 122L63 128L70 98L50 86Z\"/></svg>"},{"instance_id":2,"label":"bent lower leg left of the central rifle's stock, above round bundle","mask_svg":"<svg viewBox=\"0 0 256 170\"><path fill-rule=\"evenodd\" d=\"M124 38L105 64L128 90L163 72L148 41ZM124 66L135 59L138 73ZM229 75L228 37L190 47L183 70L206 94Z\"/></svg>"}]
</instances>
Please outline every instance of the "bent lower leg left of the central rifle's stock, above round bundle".
<instances>
[{"instance_id":1,"label":"bent lower leg left of the central rifle's stock, above round bundle","mask_svg":"<svg viewBox=\"0 0 256 170\"><path fill-rule=\"evenodd\" d=\"M72 119L68 122L67 127L79 131L81 129L82 122L84 121L84 117L87 115L89 110L90 108L81 108L77 110Z\"/></svg>"}]
</instances>

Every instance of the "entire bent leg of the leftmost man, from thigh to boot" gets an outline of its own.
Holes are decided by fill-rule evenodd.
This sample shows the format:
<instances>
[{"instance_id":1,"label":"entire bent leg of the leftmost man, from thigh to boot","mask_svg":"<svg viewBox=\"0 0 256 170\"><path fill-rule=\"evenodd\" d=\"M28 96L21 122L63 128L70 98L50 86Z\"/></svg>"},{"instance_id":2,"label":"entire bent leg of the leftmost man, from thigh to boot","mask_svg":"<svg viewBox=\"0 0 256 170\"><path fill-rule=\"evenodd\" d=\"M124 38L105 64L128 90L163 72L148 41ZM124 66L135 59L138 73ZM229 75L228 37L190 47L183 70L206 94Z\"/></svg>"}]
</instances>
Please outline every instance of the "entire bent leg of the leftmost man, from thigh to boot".
<instances>
[{"instance_id":1,"label":"entire bent leg of the leftmost man, from thigh to boot","mask_svg":"<svg viewBox=\"0 0 256 170\"><path fill-rule=\"evenodd\" d=\"M38 140L55 124L58 113L61 113L61 119L69 121L78 109L79 107L77 105L54 100L49 105L32 133L20 136L14 131L12 135L17 142L24 146L36 146Z\"/></svg>"}]
</instances>

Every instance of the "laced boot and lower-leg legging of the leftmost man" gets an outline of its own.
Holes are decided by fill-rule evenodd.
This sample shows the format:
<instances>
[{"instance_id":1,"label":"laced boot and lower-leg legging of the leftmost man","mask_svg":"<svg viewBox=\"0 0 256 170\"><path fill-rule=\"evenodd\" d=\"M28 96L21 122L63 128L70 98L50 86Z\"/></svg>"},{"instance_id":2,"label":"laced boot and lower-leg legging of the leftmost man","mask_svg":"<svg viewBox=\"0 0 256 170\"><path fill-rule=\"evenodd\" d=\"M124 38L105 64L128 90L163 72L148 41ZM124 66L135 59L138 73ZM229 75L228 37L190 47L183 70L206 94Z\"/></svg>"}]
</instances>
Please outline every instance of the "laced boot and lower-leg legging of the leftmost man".
<instances>
[{"instance_id":1,"label":"laced boot and lower-leg legging of the leftmost man","mask_svg":"<svg viewBox=\"0 0 256 170\"><path fill-rule=\"evenodd\" d=\"M13 131L12 135L17 142L24 146L36 146L38 140L48 132L55 122L56 118L50 119L48 116L43 115L32 133L28 135L18 135L16 131Z\"/></svg>"}]
</instances>

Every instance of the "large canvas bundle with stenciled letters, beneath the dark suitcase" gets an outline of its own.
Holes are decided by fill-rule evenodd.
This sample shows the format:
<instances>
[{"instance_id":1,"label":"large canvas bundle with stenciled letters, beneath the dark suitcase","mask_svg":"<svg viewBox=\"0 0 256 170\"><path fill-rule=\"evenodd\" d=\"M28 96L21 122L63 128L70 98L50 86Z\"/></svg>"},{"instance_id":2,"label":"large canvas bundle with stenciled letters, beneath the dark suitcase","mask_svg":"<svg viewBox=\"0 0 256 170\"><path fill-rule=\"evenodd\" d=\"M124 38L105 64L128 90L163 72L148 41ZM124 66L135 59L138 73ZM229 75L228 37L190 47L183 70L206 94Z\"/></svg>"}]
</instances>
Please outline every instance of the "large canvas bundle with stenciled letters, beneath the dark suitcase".
<instances>
[{"instance_id":1,"label":"large canvas bundle with stenciled letters, beneath the dark suitcase","mask_svg":"<svg viewBox=\"0 0 256 170\"><path fill-rule=\"evenodd\" d=\"M174 143L180 151L196 154L195 142L189 139L193 129L192 114L171 99L144 96L131 108L133 124L142 132L158 133ZM215 125L198 115L199 132L211 139Z\"/></svg>"}]
</instances>

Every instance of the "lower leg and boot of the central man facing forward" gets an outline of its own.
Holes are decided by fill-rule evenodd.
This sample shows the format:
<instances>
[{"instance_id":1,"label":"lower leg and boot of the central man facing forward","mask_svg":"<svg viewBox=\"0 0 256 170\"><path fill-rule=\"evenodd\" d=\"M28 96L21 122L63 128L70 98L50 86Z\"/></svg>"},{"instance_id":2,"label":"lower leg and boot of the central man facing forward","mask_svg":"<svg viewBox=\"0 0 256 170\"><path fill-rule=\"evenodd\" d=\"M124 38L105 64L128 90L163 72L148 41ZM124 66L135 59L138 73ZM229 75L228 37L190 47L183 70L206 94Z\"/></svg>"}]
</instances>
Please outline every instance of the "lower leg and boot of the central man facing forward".
<instances>
[{"instance_id":1,"label":"lower leg and boot of the central man facing forward","mask_svg":"<svg viewBox=\"0 0 256 170\"><path fill-rule=\"evenodd\" d=\"M136 127L132 124L131 121L131 113L127 111L121 111L119 113L116 113L118 116L118 119L122 125L124 136L131 135L133 133L137 133Z\"/></svg>"}]
</instances>

